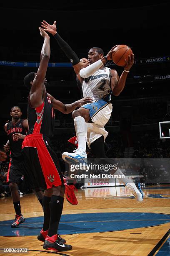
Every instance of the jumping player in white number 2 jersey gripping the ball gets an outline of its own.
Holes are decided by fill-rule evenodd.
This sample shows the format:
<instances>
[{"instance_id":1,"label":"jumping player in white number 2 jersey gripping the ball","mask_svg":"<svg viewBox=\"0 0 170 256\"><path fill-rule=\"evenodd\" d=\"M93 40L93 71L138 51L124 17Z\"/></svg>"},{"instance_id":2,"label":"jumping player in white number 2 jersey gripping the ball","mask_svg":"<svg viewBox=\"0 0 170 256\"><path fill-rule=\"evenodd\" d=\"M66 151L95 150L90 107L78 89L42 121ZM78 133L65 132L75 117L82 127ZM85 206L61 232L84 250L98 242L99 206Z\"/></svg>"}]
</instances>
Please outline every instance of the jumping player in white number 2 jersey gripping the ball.
<instances>
[{"instance_id":1,"label":"jumping player in white number 2 jersey gripping the ball","mask_svg":"<svg viewBox=\"0 0 170 256\"><path fill-rule=\"evenodd\" d=\"M114 48L111 51L114 51ZM110 54L104 57L101 48L91 48L88 52L90 65L80 70L83 95L90 95L88 97L91 97L93 102L83 105L72 113L79 146L75 153L62 154L62 158L67 162L87 162L86 140L90 147L90 144L100 136L103 136L104 140L107 137L108 132L105 131L104 126L112 113L111 95L118 96L124 89L134 56L132 55L132 59L129 56L120 78L115 69L112 70L103 65L110 59Z\"/></svg>"}]
</instances>

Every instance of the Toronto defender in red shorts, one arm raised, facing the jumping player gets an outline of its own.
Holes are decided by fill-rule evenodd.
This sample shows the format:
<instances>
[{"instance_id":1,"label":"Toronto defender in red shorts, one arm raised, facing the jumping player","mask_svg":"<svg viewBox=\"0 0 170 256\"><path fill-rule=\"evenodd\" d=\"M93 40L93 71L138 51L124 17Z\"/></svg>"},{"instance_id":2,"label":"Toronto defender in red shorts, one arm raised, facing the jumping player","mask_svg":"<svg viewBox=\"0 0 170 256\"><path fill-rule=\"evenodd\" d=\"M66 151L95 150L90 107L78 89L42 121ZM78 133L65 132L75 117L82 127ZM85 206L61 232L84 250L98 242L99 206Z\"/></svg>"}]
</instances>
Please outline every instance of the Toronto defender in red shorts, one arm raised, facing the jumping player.
<instances>
[{"instance_id":1,"label":"Toronto defender in red shorts, one arm raised, facing the jumping player","mask_svg":"<svg viewBox=\"0 0 170 256\"><path fill-rule=\"evenodd\" d=\"M24 78L25 86L30 90L28 96L29 131L23 141L23 154L30 175L32 186L35 184L45 189L43 197L44 223L40 235L43 248L55 251L71 250L65 240L57 234L62 214L65 186L57 156L50 138L54 136L54 109L62 113L71 113L89 98L64 105L46 92L45 74L50 59L50 37L39 28L44 43L41 50L40 66L37 73L31 72Z\"/></svg>"}]
</instances>

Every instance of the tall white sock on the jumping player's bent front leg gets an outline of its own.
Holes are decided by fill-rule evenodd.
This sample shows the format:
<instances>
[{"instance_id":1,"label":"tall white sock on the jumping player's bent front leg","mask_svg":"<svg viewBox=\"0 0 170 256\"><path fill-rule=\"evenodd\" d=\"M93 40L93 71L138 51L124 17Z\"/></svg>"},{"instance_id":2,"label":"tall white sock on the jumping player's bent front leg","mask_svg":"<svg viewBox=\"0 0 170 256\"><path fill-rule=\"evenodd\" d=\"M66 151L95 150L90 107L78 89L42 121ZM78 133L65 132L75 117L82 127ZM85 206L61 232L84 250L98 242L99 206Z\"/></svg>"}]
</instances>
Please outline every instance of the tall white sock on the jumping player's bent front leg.
<instances>
[{"instance_id":1,"label":"tall white sock on the jumping player's bent front leg","mask_svg":"<svg viewBox=\"0 0 170 256\"><path fill-rule=\"evenodd\" d=\"M74 125L78 141L78 148L82 148L83 151L85 151L87 140L87 123L82 116L76 116L74 119Z\"/></svg>"}]
</instances>

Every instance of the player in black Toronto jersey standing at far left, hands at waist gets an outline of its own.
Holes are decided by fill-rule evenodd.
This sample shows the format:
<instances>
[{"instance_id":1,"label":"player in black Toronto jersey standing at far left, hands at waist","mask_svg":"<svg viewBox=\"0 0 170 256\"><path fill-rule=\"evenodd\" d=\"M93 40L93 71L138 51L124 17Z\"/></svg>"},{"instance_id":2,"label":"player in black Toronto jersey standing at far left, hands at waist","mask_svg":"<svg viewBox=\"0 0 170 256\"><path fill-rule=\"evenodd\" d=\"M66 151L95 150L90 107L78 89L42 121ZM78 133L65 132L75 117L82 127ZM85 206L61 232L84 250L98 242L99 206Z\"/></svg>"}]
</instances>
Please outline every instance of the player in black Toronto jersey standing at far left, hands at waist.
<instances>
[{"instance_id":1,"label":"player in black Toronto jersey standing at far left, hands at waist","mask_svg":"<svg viewBox=\"0 0 170 256\"><path fill-rule=\"evenodd\" d=\"M9 183L11 196L15 209L15 220L11 228L17 228L20 223L25 221L21 214L20 195L18 193L18 184L21 182L21 177L24 173L23 156L21 147L28 131L28 120L21 119L21 109L18 106L11 108L10 115L12 120L5 124L5 132L8 136L8 141L4 145L4 150L10 150L10 164L7 174L7 182ZM35 194L42 205L42 191L36 188Z\"/></svg>"}]
</instances>

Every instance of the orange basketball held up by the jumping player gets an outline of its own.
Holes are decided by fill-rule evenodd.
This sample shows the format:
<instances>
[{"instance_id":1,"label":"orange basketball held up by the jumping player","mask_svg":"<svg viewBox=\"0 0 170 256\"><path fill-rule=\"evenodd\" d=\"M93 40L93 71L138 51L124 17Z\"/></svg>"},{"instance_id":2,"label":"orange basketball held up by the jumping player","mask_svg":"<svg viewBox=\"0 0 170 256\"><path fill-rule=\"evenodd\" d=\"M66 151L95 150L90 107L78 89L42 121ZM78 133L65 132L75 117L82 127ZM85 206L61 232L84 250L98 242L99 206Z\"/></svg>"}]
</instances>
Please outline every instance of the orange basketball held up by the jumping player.
<instances>
[{"instance_id":1,"label":"orange basketball held up by the jumping player","mask_svg":"<svg viewBox=\"0 0 170 256\"><path fill-rule=\"evenodd\" d=\"M112 54L112 61L117 65L124 67L126 65L125 59L128 61L128 55L132 55L133 51L129 46L125 44L120 44L114 49Z\"/></svg>"}]
</instances>

